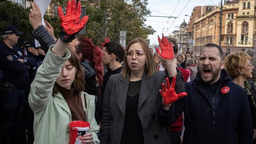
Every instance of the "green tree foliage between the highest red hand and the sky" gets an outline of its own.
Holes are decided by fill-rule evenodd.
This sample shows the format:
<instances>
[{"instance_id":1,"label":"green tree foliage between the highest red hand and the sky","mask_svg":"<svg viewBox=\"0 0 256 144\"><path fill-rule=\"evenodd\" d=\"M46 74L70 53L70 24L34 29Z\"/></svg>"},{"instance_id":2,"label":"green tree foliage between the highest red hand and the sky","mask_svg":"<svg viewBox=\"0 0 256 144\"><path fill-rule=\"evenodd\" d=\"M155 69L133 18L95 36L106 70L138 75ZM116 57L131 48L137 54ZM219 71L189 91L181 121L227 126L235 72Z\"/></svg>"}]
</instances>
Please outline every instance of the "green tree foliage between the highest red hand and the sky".
<instances>
[{"instance_id":1,"label":"green tree foliage between the highest red hand and the sky","mask_svg":"<svg viewBox=\"0 0 256 144\"><path fill-rule=\"evenodd\" d=\"M103 41L106 29L107 37L112 41L119 41L120 30L126 30L127 43L136 37L147 39L155 32L145 24L143 17L150 15L147 4L147 0L101 0L101 4L86 5L86 15L89 16L86 36L98 43Z\"/></svg>"}]
</instances>

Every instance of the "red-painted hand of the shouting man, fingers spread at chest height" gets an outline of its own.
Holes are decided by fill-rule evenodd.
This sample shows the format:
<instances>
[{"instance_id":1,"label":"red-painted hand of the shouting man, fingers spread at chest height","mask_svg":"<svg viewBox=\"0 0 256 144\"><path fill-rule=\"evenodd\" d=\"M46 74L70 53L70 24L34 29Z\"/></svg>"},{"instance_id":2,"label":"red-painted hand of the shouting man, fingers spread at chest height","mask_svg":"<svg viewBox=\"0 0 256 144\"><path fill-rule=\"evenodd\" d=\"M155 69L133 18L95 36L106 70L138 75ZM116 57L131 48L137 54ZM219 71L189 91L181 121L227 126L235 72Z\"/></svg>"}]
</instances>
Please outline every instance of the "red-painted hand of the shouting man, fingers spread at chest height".
<instances>
[{"instance_id":1,"label":"red-painted hand of the shouting man, fingers spread at chest height","mask_svg":"<svg viewBox=\"0 0 256 144\"><path fill-rule=\"evenodd\" d=\"M187 95L187 93L185 92L179 93L179 94L175 92L175 89L174 89L175 82L176 82L176 76L173 77L171 86L169 83L169 78L166 78L167 88L165 88L165 83L162 83L162 89L164 90L164 92L162 92L162 90L159 90L159 91L163 98L163 103L162 103L163 105L170 105L176 100L178 100L180 97Z\"/></svg>"}]
</instances>

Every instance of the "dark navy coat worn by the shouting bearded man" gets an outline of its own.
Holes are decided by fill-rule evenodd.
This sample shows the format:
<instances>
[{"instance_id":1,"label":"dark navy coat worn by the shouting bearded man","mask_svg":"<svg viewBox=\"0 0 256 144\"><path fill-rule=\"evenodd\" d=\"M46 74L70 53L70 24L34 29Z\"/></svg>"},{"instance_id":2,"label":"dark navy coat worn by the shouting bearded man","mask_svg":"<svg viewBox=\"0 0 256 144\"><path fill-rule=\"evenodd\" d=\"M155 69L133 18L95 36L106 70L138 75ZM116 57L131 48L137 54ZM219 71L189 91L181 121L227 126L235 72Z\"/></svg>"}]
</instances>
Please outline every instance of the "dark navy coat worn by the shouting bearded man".
<instances>
[{"instance_id":1,"label":"dark navy coat worn by the shouting bearded man","mask_svg":"<svg viewBox=\"0 0 256 144\"><path fill-rule=\"evenodd\" d=\"M185 83L187 97L172 105L172 123L184 110L183 144L253 143L251 112L246 90L234 83L224 69L222 72L224 78L214 95L219 96L218 105L213 104L214 99L202 82L199 72L194 81ZM221 93L224 86L230 88L226 94Z\"/></svg>"}]
</instances>

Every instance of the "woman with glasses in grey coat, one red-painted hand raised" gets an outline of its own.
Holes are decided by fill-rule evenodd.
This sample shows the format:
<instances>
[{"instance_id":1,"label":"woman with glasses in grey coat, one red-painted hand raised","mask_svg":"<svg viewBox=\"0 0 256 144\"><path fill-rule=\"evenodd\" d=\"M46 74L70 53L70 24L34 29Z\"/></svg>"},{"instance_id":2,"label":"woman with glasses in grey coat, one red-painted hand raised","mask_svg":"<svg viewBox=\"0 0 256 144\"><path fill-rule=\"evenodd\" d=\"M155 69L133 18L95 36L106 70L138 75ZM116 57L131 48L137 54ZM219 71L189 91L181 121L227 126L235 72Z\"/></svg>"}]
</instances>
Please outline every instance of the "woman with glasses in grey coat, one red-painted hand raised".
<instances>
[{"instance_id":1,"label":"woman with glasses in grey coat, one red-painted hand raised","mask_svg":"<svg viewBox=\"0 0 256 144\"><path fill-rule=\"evenodd\" d=\"M172 44L164 36L163 44L158 40L165 71L157 70L147 41L135 38L126 48L122 72L109 78L103 96L102 144L170 144L170 104L159 90L165 78L172 81L176 76L172 86L182 94L184 83L175 67Z\"/></svg>"}]
</instances>

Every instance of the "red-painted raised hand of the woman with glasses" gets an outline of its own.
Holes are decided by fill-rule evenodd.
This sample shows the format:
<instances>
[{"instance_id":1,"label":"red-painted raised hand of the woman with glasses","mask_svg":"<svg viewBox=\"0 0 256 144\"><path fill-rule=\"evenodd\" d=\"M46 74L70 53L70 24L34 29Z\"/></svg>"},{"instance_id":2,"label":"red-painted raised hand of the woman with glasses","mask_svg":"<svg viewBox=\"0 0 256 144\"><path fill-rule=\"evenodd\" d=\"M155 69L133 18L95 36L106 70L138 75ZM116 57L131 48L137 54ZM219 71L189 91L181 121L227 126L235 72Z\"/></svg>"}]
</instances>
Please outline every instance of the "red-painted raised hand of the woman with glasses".
<instances>
[{"instance_id":1,"label":"red-painted raised hand of the woman with glasses","mask_svg":"<svg viewBox=\"0 0 256 144\"><path fill-rule=\"evenodd\" d=\"M157 48L158 55L162 57L162 59L174 59L174 52L173 52L173 47L172 43L168 41L168 39L162 34L162 41L160 37L158 36L158 42L161 47L161 53L159 49Z\"/></svg>"}]
</instances>

